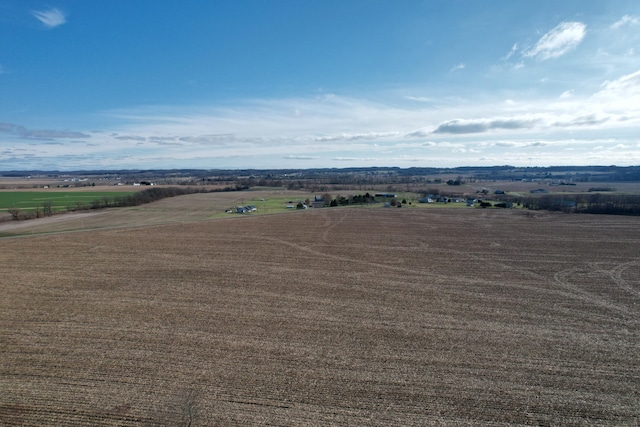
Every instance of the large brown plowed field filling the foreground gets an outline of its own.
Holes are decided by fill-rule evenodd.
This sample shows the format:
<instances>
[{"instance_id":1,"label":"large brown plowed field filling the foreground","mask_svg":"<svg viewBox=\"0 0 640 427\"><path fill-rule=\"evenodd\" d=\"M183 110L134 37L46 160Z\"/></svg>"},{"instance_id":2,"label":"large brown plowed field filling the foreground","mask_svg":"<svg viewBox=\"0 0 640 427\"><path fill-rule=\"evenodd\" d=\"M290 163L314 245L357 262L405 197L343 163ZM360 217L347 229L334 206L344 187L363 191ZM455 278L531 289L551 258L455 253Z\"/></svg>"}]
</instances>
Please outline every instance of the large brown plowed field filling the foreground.
<instances>
[{"instance_id":1,"label":"large brown plowed field filling the foreground","mask_svg":"<svg viewBox=\"0 0 640 427\"><path fill-rule=\"evenodd\" d=\"M640 218L318 209L0 240L0 424L640 423Z\"/></svg>"}]
</instances>

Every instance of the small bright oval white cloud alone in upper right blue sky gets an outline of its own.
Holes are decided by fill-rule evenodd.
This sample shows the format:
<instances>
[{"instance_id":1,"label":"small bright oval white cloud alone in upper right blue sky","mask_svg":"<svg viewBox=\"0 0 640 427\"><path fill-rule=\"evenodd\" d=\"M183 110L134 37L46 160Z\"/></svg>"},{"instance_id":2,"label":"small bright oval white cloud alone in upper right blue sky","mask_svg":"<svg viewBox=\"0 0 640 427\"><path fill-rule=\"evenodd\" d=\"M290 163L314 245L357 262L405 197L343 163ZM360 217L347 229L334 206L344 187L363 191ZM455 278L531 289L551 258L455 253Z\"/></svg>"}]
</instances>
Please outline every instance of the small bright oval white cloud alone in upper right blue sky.
<instances>
[{"instance_id":1,"label":"small bright oval white cloud alone in upper right blue sky","mask_svg":"<svg viewBox=\"0 0 640 427\"><path fill-rule=\"evenodd\" d=\"M536 58L541 61L558 58L582 42L587 26L582 22L562 22L560 25L542 36L530 49L523 52L525 58Z\"/></svg>"}]
</instances>

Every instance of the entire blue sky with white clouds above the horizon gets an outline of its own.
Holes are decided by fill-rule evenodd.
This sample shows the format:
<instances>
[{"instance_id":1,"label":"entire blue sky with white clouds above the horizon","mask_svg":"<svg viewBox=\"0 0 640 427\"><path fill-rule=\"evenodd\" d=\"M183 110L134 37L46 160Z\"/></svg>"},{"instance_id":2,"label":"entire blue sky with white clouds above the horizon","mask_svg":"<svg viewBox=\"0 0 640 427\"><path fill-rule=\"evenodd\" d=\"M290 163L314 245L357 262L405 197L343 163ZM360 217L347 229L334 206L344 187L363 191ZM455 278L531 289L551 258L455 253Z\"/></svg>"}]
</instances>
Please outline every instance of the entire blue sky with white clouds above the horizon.
<instances>
[{"instance_id":1,"label":"entire blue sky with white clouds above the horizon","mask_svg":"<svg viewBox=\"0 0 640 427\"><path fill-rule=\"evenodd\" d=\"M640 165L640 1L0 2L0 171L496 165Z\"/></svg>"}]
</instances>

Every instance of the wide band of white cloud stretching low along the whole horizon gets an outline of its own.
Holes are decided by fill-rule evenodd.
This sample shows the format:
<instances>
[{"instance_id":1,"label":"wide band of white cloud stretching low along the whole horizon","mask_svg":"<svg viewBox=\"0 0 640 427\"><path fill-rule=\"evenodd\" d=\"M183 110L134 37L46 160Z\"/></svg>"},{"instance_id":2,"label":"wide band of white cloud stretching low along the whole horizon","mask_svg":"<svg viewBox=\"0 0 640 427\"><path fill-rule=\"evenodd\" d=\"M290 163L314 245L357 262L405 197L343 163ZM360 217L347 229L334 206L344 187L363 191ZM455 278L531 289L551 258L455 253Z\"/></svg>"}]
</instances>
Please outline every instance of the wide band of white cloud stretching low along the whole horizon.
<instances>
[{"instance_id":1,"label":"wide band of white cloud stretching low along the whole horizon","mask_svg":"<svg viewBox=\"0 0 640 427\"><path fill-rule=\"evenodd\" d=\"M529 165L530 158L539 165L630 165L640 162L638 105L640 70L595 86L591 96L584 90L543 98L509 92L454 102L401 94L371 102L329 95L252 100L227 108L146 106L107 114L119 125L102 131L0 123L0 152L10 150L0 167L18 165L7 158L32 168L56 164L61 169L84 167L91 159L96 168L327 167L340 161L454 166L483 158L516 165ZM618 144L626 147L614 148ZM594 152L596 146L604 148ZM559 157L567 147L574 150L571 156Z\"/></svg>"}]
</instances>

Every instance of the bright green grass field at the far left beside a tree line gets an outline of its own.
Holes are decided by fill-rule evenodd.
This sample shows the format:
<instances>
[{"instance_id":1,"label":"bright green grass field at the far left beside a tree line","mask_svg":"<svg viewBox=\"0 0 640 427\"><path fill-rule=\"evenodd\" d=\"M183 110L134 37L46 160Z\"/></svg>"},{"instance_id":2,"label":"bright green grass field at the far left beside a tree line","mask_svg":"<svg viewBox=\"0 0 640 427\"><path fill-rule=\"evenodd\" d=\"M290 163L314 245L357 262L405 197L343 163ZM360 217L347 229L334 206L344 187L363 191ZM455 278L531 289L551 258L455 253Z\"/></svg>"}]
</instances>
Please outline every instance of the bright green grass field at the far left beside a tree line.
<instances>
[{"instance_id":1,"label":"bright green grass field at the far left beside a tree line","mask_svg":"<svg viewBox=\"0 0 640 427\"><path fill-rule=\"evenodd\" d=\"M114 199L133 194L133 191L6 191L0 192L0 212L10 208L32 212L51 202L54 211L66 210L78 203L91 204L94 200Z\"/></svg>"}]
</instances>

